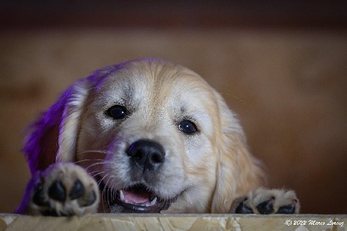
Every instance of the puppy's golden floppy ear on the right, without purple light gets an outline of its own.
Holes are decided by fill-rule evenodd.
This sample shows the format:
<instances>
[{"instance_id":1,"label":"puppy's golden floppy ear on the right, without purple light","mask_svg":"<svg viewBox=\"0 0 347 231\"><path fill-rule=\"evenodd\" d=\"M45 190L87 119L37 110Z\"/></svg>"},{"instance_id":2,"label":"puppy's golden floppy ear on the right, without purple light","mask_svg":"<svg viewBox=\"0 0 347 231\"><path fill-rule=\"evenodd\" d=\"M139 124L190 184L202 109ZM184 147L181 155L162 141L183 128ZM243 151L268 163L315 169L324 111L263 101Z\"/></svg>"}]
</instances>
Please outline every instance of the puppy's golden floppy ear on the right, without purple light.
<instances>
[{"instance_id":1,"label":"puppy's golden floppy ear on the right, without purple light","mask_svg":"<svg viewBox=\"0 0 347 231\"><path fill-rule=\"evenodd\" d=\"M222 97L215 92L221 114L217 135L217 185L212 199L212 213L227 213L232 200L262 184L260 162L248 151L246 137Z\"/></svg>"}]
</instances>

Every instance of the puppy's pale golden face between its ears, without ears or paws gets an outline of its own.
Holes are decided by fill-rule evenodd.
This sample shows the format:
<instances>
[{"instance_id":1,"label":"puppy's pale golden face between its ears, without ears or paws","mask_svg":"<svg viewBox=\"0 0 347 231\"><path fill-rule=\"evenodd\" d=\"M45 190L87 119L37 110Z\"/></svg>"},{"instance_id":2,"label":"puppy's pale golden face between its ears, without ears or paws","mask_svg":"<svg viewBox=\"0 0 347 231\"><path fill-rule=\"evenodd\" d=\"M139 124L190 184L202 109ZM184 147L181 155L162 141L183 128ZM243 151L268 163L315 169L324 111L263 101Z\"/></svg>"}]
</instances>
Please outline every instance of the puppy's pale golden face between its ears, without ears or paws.
<instances>
[{"instance_id":1,"label":"puppy's pale golden face between its ears, without ears or paws","mask_svg":"<svg viewBox=\"0 0 347 231\"><path fill-rule=\"evenodd\" d=\"M214 90L184 67L129 62L89 91L76 162L99 180L101 210L207 212L221 136Z\"/></svg>"}]
</instances>

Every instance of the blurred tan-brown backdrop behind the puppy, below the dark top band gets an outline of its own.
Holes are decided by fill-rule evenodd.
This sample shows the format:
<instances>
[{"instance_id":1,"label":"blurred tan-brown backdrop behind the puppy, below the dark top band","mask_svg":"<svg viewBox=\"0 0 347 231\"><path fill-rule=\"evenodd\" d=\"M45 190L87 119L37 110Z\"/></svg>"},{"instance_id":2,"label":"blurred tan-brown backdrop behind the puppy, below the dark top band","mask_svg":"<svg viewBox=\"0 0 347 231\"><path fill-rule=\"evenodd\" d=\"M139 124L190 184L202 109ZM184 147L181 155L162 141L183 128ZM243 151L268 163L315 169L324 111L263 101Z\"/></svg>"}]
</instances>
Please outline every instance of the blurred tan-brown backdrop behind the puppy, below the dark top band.
<instances>
[{"instance_id":1,"label":"blurred tan-brown backdrop behind the puppy, below the dark top band","mask_svg":"<svg viewBox=\"0 0 347 231\"><path fill-rule=\"evenodd\" d=\"M326 31L38 30L0 37L0 212L29 178L22 131L77 78L160 57L201 74L239 114L269 187L305 213L347 210L347 36Z\"/></svg>"}]
</instances>

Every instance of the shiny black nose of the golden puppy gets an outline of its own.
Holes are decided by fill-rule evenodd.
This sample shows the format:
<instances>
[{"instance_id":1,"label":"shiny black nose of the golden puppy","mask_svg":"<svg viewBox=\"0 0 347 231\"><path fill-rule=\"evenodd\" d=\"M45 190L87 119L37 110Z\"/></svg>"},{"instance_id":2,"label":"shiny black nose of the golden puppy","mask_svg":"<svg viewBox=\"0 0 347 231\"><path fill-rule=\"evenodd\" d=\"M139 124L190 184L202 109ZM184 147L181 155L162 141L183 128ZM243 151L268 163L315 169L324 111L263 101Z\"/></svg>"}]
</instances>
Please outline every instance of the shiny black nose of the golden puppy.
<instances>
[{"instance_id":1,"label":"shiny black nose of the golden puppy","mask_svg":"<svg viewBox=\"0 0 347 231\"><path fill-rule=\"evenodd\" d=\"M130 145L128 156L133 166L138 166L143 171L158 169L165 160L164 148L157 142L149 139L139 139Z\"/></svg>"}]
</instances>

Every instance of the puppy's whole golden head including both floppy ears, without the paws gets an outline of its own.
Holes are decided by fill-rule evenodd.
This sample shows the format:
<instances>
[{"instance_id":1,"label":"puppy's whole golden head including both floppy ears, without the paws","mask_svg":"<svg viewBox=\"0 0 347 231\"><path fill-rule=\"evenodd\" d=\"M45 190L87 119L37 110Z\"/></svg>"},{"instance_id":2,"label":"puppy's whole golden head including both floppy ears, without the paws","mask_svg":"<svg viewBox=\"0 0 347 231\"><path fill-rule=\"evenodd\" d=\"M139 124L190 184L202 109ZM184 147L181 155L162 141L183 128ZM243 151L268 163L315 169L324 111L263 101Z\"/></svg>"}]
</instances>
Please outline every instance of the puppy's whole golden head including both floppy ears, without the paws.
<instances>
[{"instance_id":1,"label":"puppy's whole golden head including both floppy ears, without the paws","mask_svg":"<svg viewBox=\"0 0 347 231\"><path fill-rule=\"evenodd\" d=\"M106 212L227 212L257 187L242 128L185 67L150 59L107 67L78 80L44 117L53 110L61 119L36 139L56 140L55 161L77 162L99 181ZM33 171L54 161L41 149L33 160L27 148Z\"/></svg>"}]
</instances>

